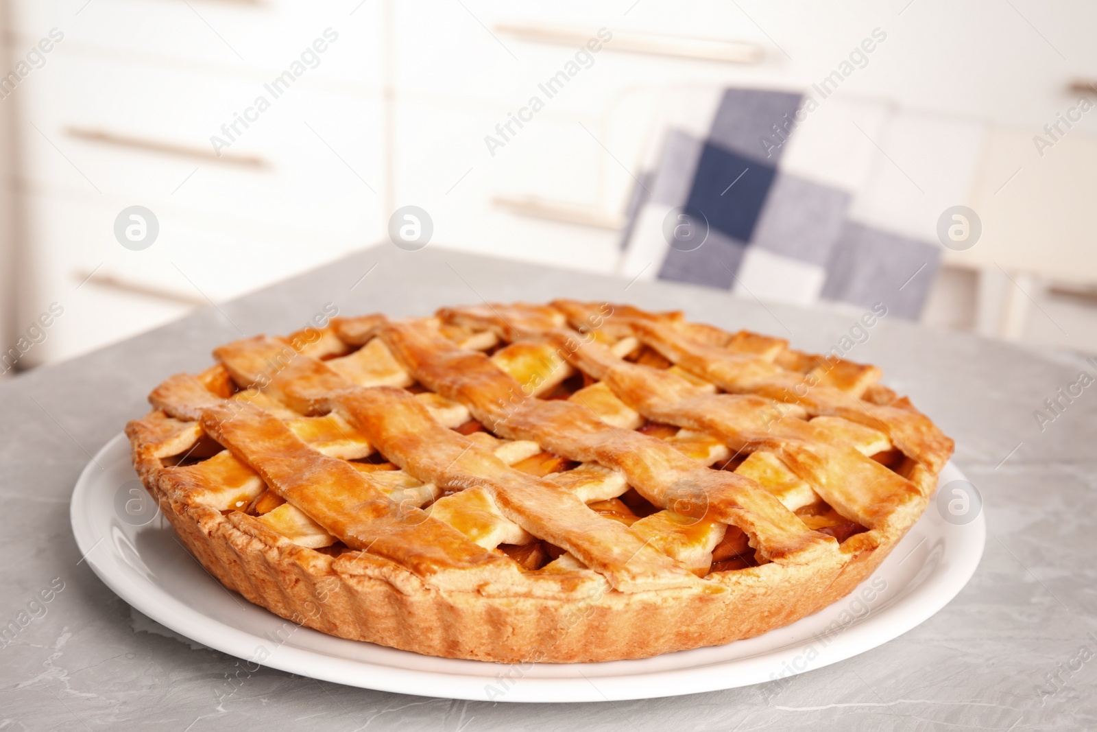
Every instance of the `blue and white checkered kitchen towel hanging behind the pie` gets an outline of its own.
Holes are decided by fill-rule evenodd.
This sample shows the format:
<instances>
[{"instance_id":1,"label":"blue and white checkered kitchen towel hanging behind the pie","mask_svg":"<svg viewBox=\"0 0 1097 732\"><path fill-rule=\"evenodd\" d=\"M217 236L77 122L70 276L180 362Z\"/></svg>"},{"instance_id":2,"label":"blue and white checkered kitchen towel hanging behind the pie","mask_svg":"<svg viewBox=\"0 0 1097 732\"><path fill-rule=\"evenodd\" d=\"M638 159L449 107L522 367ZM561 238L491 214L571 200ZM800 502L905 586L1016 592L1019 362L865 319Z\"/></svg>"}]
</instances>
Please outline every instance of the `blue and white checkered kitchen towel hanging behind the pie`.
<instances>
[{"instance_id":1,"label":"blue and white checkered kitchen towel hanging behind the pie","mask_svg":"<svg viewBox=\"0 0 1097 732\"><path fill-rule=\"evenodd\" d=\"M965 193L979 125L755 89L686 89L661 108L626 277L918 317L940 257L936 218Z\"/></svg>"}]
</instances>

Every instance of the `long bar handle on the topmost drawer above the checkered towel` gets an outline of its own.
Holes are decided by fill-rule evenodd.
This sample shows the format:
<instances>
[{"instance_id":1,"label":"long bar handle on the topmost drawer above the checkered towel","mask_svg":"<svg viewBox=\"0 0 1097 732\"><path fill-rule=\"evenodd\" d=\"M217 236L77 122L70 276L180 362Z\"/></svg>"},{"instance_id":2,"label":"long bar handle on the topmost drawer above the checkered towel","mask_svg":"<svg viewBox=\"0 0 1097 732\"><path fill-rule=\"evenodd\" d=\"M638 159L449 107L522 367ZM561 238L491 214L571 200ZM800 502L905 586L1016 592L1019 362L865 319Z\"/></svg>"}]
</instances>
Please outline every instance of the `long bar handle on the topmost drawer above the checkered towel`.
<instances>
[{"instance_id":1,"label":"long bar handle on the topmost drawer above the checkered towel","mask_svg":"<svg viewBox=\"0 0 1097 732\"><path fill-rule=\"evenodd\" d=\"M585 27L534 23L497 23L495 30L521 41L561 46L584 46L591 38L598 37L595 31ZM762 57L759 46L744 41L720 41L634 31L614 31L613 37L606 42L606 48L727 64L754 64Z\"/></svg>"}]
</instances>

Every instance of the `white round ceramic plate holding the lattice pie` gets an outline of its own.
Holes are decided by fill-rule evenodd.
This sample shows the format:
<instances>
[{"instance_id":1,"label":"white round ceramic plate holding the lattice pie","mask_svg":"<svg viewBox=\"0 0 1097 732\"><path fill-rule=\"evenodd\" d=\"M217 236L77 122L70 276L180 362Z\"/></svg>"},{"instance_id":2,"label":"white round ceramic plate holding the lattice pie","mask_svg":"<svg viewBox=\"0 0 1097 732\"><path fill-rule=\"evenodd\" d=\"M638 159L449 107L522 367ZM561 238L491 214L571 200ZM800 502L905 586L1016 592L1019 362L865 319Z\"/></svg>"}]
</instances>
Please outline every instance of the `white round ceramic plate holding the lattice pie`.
<instances>
[{"instance_id":1,"label":"white round ceramic plate holding the lattice pie","mask_svg":"<svg viewBox=\"0 0 1097 732\"><path fill-rule=\"evenodd\" d=\"M941 484L962 478L949 463ZM143 505L154 513L142 516ZM607 701L787 678L902 635L945 607L983 554L986 525L977 504L970 507L979 511L976 518L962 526L946 521L937 505L930 504L880 570L852 595L785 628L642 661L523 666L436 658L332 638L298 628L225 589L155 513L129 464L129 443L123 435L84 469L70 513L84 561L120 597L168 628L239 658L338 684L419 696Z\"/></svg>"}]
</instances>

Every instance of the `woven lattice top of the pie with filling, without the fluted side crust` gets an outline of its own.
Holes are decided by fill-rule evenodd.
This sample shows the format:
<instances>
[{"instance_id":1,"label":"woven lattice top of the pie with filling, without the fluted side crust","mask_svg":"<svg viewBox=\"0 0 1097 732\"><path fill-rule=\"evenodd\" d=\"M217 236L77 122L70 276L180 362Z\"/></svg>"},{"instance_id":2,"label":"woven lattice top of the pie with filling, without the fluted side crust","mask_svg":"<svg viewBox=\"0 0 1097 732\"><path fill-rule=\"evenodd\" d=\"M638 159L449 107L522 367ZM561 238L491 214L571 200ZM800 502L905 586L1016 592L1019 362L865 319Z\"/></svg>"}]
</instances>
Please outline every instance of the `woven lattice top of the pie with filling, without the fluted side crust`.
<instances>
[{"instance_id":1,"label":"woven lattice top of the pie with filling, without the fluted side crust","mask_svg":"<svg viewBox=\"0 0 1097 732\"><path fill-rule=\"evenodd\" d=\"M951 451L875 367L629 306L342 318L215 356L150 395L157 480L440 588L810 562L906 520Z\"/></svg>"}]
</instances>

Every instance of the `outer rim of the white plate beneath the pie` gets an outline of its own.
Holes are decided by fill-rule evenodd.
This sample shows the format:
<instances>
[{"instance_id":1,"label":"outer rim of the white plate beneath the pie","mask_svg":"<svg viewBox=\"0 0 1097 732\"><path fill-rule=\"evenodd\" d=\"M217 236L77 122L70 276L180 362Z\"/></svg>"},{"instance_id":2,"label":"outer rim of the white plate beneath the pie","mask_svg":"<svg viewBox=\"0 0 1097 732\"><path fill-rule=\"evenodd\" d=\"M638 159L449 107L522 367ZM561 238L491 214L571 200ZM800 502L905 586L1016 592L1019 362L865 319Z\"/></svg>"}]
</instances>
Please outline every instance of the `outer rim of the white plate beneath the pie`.
<instances>
[{"instance_id":1,"label":"outer rim of the white plate beneath the pie","mask_svg":"<svg viewBox=\"0 0 1097 732\"><path fill-rule=\"evenodd\" d=\"M270 640L204 615L177 599L157 584L147 581L135 583L131 576L116 571L109 563L95 556L94 549L108 539L108 534L104 533L95 539L90 514L81 511L79 508L84 504L88 493L92 489L95 472L100 470L101 464L111 463L110 453L118 450L121 442L126 442L128 446L125 433L120 432L111 438L88 462L73 487L69 502L69 521L82 556L81 561L87 561L92 572L111 592L152 620L215 651L241 660L249 658L252 650L260 645L265 646ZM125 453L128 455L128 449ZM102 470L108 469L103 468ZM954 476L947 477L949 474ZM947 480L966 480L951 460L946 464L940 475L940 483ZM969 537L968 540L957 542L960 545L953 554L945 555L953 560L951 564L939 562L938 568L913 590L896 597L879 610L870 611L845 628L840 632L842 642L835 644L834 652L802 671L794 671L793 674L784 678L817 671L883 645L918 627L951 603L966 586L982 560L986 543L985 506L983 508L984 510L980 511L975 520L965 526L965 529L969 529L965 532ZM928 514L928 511L929 507L927 507L926 513ZM173 528L171 530L174 531ZM185 548L183 551L186 551ZM248 600L245 598L245 601ZM250 605L264 609L255 604ZM306 630L319 633L319 631L312 629ZM764 635L765 633L757 638ZM336 640L355 642L347 639ZM332 655L319 650L302 649L289 644L276 645L274 651L265 656L259 665L346 686L423 697L441 696L450 699L508 702L623 701L701 694L768 683L772 680L771 677L759 678L758 674L776 668L788 658L795 660L812 646L813 642L815 642L815 637L807 637L800 643L746 657L702 662L669 669L597 675L595 678L598 680L598 685L595 685L589 676L578 669L576 671L578 676L568 677L546 678L520 675L512 685L504 687L505 690L497 697L488 691L488 686L491 685L494 678L500 678L498 675L495 677L470 675L456 668L453 672L406 668ZM514 664L423 656L411 651L386 646L377 647L430 658L442 664L446 662L485 664L502 669L514 666ZM602 664L552 664L552 666L585 668L603 664L642 664L645 661L651 660L613 661ZM249 661L249 663L257 662ZM427 689L430 691L428 692ZM653 692L652 689L657 690Z\"/></svg>"}]
</instances>

